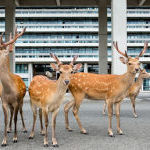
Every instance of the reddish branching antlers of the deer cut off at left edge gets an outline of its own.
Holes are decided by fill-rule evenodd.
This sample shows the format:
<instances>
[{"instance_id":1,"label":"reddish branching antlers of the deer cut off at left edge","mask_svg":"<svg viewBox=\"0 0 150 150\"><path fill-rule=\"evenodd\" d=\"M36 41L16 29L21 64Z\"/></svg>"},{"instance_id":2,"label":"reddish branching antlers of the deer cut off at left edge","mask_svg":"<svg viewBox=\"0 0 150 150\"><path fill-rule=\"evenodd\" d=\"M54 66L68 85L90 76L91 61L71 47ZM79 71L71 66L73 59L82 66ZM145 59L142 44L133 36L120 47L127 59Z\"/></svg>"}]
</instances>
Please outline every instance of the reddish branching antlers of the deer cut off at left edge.
<instances>
[{"instance_id":1,"label":"reddish branching antlers of the deer cut off at left edge","mask_svg":"<svg viewBox=\"0 0 150 150\"><path fill-rule=\"evenodd\" d=\"M25 31L26 31L26 27L20 33L17 32L17 28L16 28L14 38L10 37L10 40L6 43L2 42L3 39L3 34L2 34L0 37L0 47L6 47L10 44L13 44L20 36L24 34Z\"/></svg>"}]
</instances>

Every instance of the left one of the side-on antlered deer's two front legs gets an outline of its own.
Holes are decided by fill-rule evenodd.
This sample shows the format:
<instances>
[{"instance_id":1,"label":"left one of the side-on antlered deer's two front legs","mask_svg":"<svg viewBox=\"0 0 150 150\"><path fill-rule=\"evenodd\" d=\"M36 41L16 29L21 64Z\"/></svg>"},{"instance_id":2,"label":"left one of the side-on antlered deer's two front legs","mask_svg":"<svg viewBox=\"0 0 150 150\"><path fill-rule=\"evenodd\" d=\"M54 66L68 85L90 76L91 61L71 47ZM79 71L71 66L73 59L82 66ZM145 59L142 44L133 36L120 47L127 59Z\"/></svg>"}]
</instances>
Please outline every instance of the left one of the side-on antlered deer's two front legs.
<instances>
[{"instance_id":1,"label":"left one of the side-on antlered deer's two front legs","mask_svg":"<svg viewBox=\"0 0 150 150\"><path fill-rule=\"evenodd\" d=\"M108 107L108 120L109 120L109 126L108 126L108 135L110 137L113 137L114 134L112 132L112 115L113 115L113 103L108 102L107 103L107 107Z\"/></svg>"}]
</instances>

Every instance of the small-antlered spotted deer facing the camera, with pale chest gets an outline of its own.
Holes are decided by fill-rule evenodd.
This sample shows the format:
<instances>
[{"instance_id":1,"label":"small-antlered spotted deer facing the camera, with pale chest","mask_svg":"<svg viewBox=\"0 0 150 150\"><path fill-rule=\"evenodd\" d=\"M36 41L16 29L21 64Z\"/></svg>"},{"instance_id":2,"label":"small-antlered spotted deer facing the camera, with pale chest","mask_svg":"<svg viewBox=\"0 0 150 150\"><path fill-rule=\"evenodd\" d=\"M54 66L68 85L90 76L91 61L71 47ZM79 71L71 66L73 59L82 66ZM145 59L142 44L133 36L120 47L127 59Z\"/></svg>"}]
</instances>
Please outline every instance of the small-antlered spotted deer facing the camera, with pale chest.
<instances>
[{"instance_id":1,"label":"small-antlered spotted deer facing the camera, with pale chest","mask_svg":"<svg viewBox=\"0 0 150 150\"><path fill-rule=\"evenodd\" d=\"M33 111L33 126L29 139L34 138L34 128L37 117L37 108L40 108L40 117L42 114L45 119L45 136L44 147L48 147L48 113L52 113L52 145L58 147L58 143L55 137L56 117L59 112L60 105L63 102L66 90L71 80L72 73L81 68L82 64L74 65L77 56L73 58L70 64L63 64L56 55L50 54L52 58L57 62L51 63L51 67L54 71L60 72L58 80L50 80L46 76L37 75L34 76L29 86L30 104ZM40 118L42 121L42 118ZM41 125L43 130L43 126Z\"/></svg>"}]
</instances>

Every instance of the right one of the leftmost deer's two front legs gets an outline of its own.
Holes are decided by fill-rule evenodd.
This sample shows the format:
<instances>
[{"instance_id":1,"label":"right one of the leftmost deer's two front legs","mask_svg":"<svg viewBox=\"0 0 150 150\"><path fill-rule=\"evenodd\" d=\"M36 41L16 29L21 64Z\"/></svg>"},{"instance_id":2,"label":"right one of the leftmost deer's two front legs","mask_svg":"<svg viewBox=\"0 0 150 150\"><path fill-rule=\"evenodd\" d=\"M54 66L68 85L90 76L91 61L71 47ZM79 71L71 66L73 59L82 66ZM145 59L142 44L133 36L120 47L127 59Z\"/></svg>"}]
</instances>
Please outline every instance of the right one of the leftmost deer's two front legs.
<instances>
[{"instance_id":1,"label":"right one of the leftmost deer's two front legs","mask_svg":"<svg viewBox=\"0 0 150 150\"><path fill-rule=\"evenodd\" d=\"M19 110L19 105L18 103L14 107L14 137L13 137L13 142L17 143L17 116L18 116L18 110Z\"/></svg>"}]
</instances>

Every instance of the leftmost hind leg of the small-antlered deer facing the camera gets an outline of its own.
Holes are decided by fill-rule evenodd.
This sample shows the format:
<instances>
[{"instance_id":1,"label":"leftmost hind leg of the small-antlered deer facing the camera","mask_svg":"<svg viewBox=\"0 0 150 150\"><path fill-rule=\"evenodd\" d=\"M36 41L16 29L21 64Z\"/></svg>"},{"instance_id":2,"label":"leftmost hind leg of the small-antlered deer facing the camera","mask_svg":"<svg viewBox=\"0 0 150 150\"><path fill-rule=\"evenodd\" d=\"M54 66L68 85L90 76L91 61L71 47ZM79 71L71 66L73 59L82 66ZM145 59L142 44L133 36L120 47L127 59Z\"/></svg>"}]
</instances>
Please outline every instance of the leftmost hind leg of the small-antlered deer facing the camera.
<instances>
[{"instance_id":1,"label":"leftmost hind leg of the small-antlered deer facing the camera","mask_svg":"<svg viewBox=\"0 0 150 150\"><path fill-rule=\"evenodd\" d=\"M31 107L32 107L32 111L33 111L33 126L32 126L32 131L30 133L30 136L29 136L29 139L33 139L34 137L34 128L35 128L35 123L36 123L36 118L37 118L37 108L36 106L32 105L31 104Z\"/></svg>"}]
</instances>

